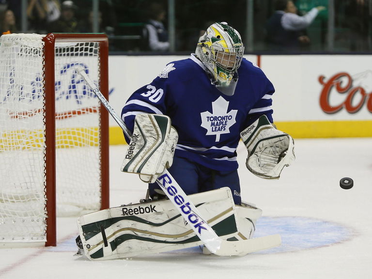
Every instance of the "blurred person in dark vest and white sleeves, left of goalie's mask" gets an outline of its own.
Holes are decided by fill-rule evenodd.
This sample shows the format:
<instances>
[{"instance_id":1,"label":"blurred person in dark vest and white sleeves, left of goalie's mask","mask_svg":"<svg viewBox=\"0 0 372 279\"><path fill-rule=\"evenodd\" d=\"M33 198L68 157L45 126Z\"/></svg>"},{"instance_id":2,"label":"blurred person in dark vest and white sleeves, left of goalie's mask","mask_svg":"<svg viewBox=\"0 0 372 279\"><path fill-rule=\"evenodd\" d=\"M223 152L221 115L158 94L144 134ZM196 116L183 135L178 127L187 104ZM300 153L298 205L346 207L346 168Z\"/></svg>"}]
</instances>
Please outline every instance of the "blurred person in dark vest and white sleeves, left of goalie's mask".
<instances>
[{"instance_id":1,"label":"blurred person in dark vest and white sleeves, left of goalie's mask","mask_svg":"<svg viewBox=\"0 0 372 279\"><path fill-rule=\"evenodd\" d=\"M166 11L159 3L151 3L149 7L149 20L142 30L143 50L167 51L169 50L168 32L162 21Z\"/></svg>"}]
</instances>

